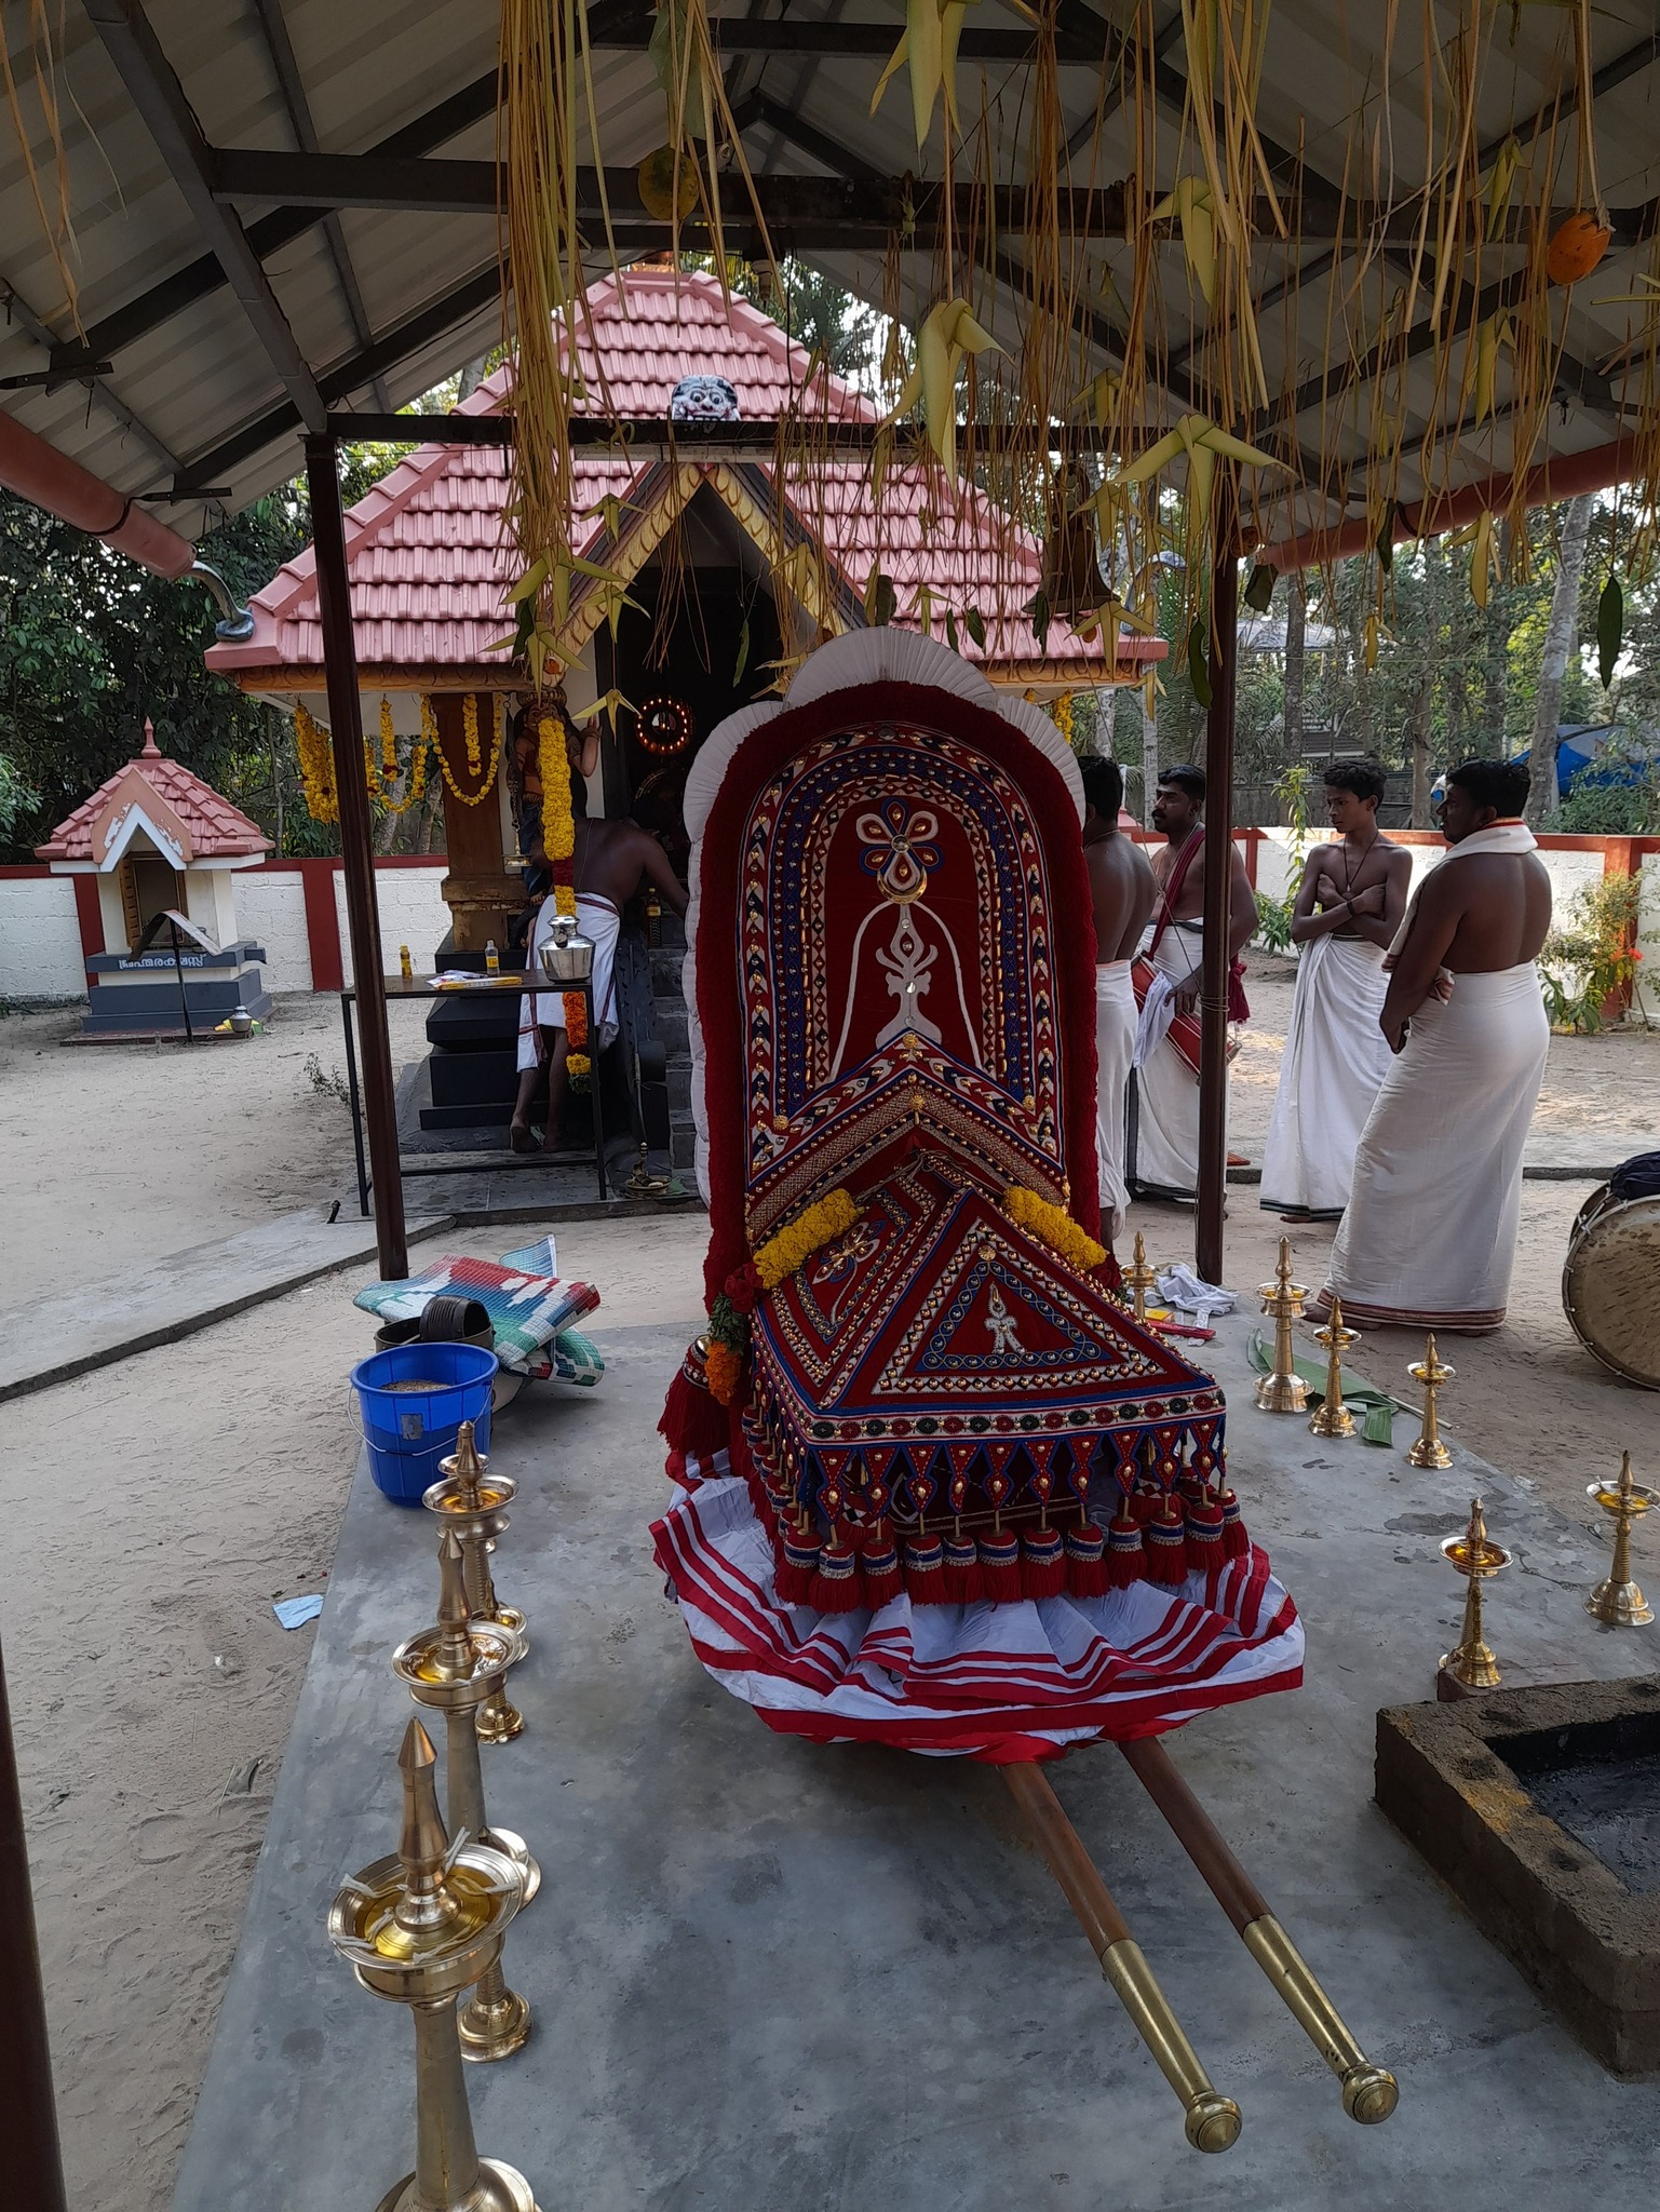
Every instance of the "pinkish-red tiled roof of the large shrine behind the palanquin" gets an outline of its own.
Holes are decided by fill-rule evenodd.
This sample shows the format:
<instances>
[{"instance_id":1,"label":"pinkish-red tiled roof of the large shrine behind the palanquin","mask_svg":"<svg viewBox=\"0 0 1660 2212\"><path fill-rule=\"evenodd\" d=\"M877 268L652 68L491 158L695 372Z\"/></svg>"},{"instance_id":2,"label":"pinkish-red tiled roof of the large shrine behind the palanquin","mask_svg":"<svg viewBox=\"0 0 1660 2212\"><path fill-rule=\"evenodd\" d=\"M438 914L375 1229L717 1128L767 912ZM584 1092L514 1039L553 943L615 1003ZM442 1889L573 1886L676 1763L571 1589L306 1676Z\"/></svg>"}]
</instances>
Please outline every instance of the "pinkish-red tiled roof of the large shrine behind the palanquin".
<instances>
[{"instance_id":1,"label":"pinkish-red tiled roof of the large shrine behind the palanquin","mask_svg":"<svg viewBox=\"0 0 1660 2212\"><path fill-rule=\"evenodd\" d=\"M589 385L587 405L635 418L664 418L682 376L724 376L746 420L775 420L803 396L808 352L748 301L722 296L713 276L666 268L633 268L589 290L587 338L578 354ZM511 389L511 367L498 369L463 405L494 414ZM819 376L810 411L837 420L876 420L876 407L841 378ZM704 473L713 473L713 462ZM642 471L609 456L575 462L584 509L606 493L626 493ZM768 467L770 476L770 467ZM1040 653L1020 608L1038 588L1038 544L967 487L941 509L941 489L923 469L888 476L881 515L872 513L863 460L830 460L803 487L786 489L801 520L821 529L826 553L859 599L874 564L894 580L899 622L916 626L919 588L932 595L934 635L945 608L976 606L987 628L978 653L963 653L1000 672L1036 677L1047 664L1069 664L1078 677L1100 675L1098 641L1056 622ZM352 575L352 630L365 668L507 666L505 593L516 575L516 549L502 522L507 456L498 447L423 445L385 476L345 520ZM602 535L595 522L593 538ZM212 646L208 666L226 675L252 670L321 670L323 628L317 608L314 555L308 549L250 602L255 633L243 644ZM1122 659L1162 657L1147 639L1120 639Z\"/></svg>"}]
</instances>

